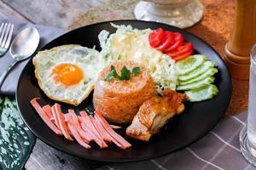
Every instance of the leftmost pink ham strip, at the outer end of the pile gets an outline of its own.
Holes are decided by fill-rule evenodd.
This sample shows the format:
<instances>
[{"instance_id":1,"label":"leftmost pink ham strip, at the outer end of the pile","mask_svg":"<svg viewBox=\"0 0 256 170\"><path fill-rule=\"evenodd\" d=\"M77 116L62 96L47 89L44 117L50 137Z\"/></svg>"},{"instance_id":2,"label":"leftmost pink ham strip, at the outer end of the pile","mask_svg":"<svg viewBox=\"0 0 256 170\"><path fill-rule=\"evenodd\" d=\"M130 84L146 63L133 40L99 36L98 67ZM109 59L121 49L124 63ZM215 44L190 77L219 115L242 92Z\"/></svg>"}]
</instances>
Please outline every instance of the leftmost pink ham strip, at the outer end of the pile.
<instances>
[{"instance_id":1,"label":"leftmost pink ham strip, at the outer end of the pile","mask_svg":"<svg viewBox=\"0 0 256 170\"><path fill-rule=\"evenodd\" d=\"M37 98L34 98L30 101L33 108L38 112L38 115L42 118L42 120L45 122L45 124L56 134L61 135L61 130L58 129L58 127L55 126L53 122L49 120L49 117L44 112L42 107L38 104Z\"/></svg>"}]
</instances>

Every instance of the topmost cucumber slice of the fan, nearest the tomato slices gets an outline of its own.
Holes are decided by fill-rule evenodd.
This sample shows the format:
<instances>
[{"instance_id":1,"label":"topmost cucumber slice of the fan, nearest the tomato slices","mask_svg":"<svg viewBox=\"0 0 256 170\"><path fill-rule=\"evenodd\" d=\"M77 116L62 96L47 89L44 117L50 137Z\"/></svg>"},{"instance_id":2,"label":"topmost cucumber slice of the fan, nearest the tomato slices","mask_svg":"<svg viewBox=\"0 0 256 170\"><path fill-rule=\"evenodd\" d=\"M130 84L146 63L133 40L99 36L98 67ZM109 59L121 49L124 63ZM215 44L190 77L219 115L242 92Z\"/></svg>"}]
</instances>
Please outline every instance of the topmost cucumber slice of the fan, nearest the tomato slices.
<instances>
[{"instance_id":1,"label":"topmost cucumber slice of the fan, nearest the tomato slices","mask_svg":"<svg viewBox=\"0 0 256 170\"><path fill-rule=\"evenodd\" d=\"M175 69L179 73L179 75L184 75L195 70L195 68L202 65L205 61L207 61L207 59L207 55L191 55L187 59L178 61L175 65Z\"/></svg>"}]
</instances>

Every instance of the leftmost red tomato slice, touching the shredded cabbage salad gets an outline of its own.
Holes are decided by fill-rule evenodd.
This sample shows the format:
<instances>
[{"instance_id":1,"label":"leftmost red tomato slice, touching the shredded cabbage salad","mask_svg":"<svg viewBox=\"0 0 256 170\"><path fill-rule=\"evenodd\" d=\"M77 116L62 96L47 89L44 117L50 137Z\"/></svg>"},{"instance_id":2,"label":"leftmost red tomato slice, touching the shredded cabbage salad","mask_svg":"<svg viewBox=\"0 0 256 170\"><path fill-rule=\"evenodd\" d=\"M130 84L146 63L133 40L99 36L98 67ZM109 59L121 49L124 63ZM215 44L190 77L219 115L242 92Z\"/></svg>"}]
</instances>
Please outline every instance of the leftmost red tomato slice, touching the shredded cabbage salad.
<instances>
[{"instance_id":1,"label":"leftmost red tomato slice, touching the shredded cabbage salad","mask_svg":"<svg viewBox=\"0 0 256 170\"><path fill-rule=\"evenodd\" d=\"M152 48L156 48L165 39L166 33L162 28L158 28L149 34L148 41Z\"/></svg>"}]
</instances>

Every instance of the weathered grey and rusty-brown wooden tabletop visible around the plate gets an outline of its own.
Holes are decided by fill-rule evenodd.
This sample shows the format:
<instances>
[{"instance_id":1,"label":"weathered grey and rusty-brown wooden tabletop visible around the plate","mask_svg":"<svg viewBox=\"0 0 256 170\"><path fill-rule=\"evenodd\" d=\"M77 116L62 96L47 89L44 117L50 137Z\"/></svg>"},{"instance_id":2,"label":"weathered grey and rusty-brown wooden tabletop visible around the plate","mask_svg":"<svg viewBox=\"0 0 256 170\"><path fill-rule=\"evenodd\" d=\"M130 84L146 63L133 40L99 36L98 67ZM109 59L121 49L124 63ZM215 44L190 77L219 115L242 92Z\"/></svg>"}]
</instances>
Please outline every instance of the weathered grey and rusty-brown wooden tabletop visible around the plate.
<instances>
[{"instance_id":1,"label":"weathered grey and rusty-brown wooden tabletop visible around the plate","mask_svg":"<svg viewBox=\"0 0 256 170\"><path fill-rule=\"evenodd\" d=\"M114 3L110 3L113 2ZM138 0L0 0L0 17L33 24L73 29L102 20L133 19ZM210 43L224 56L224 44L234 23L235 0L201 0L206 10L203 20L187 29ZM122 4L125 3L125 4ZM112 10L113 9L113 10ZM248 82L236 79L227 116L247 109ZM74 167L74 165L76 165ZM84 161L52 149L39 141L26 163L26 169L86 169L97 162Z\"/></svg>"}]
</instances>

